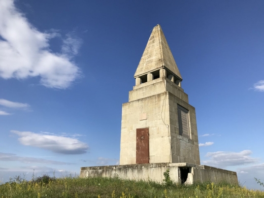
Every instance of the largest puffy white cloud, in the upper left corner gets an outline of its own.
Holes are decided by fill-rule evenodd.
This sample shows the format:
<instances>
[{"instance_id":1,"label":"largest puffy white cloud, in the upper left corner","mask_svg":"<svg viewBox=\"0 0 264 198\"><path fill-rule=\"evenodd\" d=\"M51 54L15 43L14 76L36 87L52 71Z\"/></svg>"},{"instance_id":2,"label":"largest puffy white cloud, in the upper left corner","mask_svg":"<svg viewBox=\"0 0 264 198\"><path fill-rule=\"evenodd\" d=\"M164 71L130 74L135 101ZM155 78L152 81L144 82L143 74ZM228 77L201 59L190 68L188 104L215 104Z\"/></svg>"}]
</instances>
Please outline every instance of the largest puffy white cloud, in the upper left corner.
<instances>
[{"instance_id":1,"label":"largest puffy white cloud, in the upper left corner","mask_svg":"<svg viewBox=\"0 0 264 198\"><path fill-rule=\"evenodd\" d=\"M40 77L46 87L65 89L80 76L72 61L80 40L71 34L63 40L61 53L52 53L49 40L58 34L41 32L32 26L14 5L0 2L0 77L26 79Z\"/></svg>"}]
</instances>

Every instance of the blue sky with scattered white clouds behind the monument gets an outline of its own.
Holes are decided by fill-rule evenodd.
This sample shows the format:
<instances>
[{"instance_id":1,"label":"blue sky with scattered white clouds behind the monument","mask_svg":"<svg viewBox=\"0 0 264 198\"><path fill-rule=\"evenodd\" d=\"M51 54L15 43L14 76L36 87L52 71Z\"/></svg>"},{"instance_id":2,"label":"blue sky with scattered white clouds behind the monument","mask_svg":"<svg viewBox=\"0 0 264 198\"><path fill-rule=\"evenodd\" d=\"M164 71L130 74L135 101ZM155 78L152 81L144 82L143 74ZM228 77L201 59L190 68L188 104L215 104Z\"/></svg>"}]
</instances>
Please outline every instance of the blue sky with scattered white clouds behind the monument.
<instances>
[{"instance_id":1,"label":"blue sky with scattered white clouds behind the monument","mask_svg":"<svg viewBox=\"0 0 264 198\"><path fill-rule=\"evenodd\" d=\"M201 163L264 180L263 1L0 0L0 180L118 164L122 103L160 24Z\"/></svg>"}]
</instances>

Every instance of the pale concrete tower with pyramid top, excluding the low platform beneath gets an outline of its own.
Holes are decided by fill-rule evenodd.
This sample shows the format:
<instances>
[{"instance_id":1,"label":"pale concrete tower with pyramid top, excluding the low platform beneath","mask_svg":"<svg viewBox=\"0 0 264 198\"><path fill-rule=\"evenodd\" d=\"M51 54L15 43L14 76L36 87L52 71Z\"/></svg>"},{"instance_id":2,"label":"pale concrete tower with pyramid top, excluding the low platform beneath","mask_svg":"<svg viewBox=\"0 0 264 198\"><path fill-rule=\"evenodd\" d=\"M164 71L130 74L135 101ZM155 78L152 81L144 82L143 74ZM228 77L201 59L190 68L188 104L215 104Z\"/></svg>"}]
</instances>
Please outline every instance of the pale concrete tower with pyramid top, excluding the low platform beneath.
<instances>
[{"instance_id":1,"label":"pale concrete tower with pyramid top, excluding the low platform beneath","mask_svg":"<svg viewBox=\"0 0 264 198\"><path fill-rule=\"evenodd\" d=\"M156 25L123 104L120 164L200 164L195 109L160 25Z\"/></svg>"}]
</instances>

